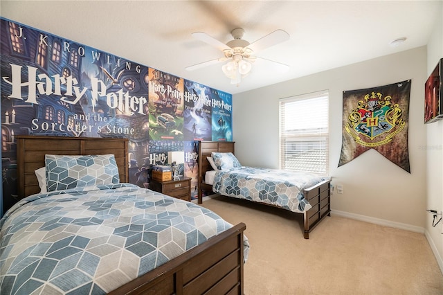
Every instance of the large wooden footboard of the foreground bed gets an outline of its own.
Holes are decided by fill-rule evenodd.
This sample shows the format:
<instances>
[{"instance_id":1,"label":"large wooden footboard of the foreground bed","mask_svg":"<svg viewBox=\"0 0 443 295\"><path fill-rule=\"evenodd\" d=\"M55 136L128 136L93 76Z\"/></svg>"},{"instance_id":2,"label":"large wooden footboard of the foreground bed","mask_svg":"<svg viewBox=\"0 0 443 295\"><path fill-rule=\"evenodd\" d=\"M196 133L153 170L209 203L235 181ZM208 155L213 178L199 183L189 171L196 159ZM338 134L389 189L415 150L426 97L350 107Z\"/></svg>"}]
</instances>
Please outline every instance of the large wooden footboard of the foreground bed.
<instances>
[{"instance_id":1,"label":"large wooden footboard of the foreground bed","mask_svg":"<svg viewBox=\"0 0 443 295\"><path fill-rule=\"evenodd\" d=\"M243 294L244 223L109 294Z\"/></svg>"}]
</instances>

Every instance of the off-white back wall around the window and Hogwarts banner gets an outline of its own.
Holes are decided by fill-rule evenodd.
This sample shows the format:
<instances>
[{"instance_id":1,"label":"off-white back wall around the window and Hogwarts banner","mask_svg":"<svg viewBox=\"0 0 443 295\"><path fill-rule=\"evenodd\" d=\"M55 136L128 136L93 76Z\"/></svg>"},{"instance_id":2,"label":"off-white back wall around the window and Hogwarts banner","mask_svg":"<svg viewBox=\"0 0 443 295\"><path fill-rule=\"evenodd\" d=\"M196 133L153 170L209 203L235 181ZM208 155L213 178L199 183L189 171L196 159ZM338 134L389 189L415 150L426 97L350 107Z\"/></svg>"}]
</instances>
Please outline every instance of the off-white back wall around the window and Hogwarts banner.
<instances>
[{"instance_id":1,"label":"off-white back wall around the window and Hogwarts banner","mask_svg":"<svg viewBox=\"0 0 443 295\"><path fill-rule=\"evenodd\" d=\"M331 57L334 58L334 57ZM412 80L409 109L410 174L374 150L337 168L341 152L344 90ZM332 209L386 220L416 231L426 226L426 47L316 73L233 96L235 153L245 166L278 168L278 99L329 89L329 165Z\"/></svg>"}]
</instances>

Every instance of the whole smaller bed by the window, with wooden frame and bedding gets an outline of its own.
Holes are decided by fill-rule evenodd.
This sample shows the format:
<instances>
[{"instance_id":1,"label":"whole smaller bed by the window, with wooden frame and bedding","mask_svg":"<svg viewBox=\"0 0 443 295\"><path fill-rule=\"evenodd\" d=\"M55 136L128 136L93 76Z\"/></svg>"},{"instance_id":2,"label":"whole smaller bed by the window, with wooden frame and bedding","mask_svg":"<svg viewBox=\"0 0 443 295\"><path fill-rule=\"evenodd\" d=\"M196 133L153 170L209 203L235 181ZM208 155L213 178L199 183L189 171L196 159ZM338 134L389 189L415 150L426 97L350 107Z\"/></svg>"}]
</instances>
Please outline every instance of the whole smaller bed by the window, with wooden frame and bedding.
<instances>
[{"instance_id":1,"label":"whole smaller bed by the window, with wooden frame and bedding","mask_svg":"<svg viewBox=\"0 0 443 295\"><path fill-rule=\"evenodd\" d=\"M206 191L302 213L304 238L309 239L312 229L330 215L330 179L307 172L244 167L234 150L234 142L200 141L199 204Z\"/></svg>"}]
</instances>

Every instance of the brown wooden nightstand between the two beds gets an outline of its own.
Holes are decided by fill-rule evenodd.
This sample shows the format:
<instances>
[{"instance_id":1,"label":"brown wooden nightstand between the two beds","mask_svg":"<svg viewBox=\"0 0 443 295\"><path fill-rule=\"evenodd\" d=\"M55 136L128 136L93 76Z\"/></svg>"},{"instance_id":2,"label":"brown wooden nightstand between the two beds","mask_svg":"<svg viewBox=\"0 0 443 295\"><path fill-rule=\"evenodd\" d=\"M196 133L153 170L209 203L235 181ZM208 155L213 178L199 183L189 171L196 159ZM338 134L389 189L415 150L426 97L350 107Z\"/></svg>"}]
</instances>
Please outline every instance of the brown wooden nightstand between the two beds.
<instances>
[{"instance_id":1,"label":"brown wooden nightstand between the two beds","mask_svg":"<svg viewBox=\"0 0 443 295\"><path fill-rule=\"evenodd\" d=\"M191 200L191 179L181 177L179 180L156 181L150 180L150 189L156 192L176 197L177 199Z\"/></svg>"}]
</instances>

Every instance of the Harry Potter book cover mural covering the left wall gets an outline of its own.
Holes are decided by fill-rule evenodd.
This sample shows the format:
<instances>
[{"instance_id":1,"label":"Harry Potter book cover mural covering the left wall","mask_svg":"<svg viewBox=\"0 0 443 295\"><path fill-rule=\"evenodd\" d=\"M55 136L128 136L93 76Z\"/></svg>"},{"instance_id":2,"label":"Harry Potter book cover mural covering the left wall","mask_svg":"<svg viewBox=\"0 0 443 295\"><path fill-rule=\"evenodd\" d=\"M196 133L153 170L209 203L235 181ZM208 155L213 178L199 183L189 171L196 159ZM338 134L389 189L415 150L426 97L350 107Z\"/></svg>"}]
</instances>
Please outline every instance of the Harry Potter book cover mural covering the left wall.
<instances>
[{"instance_id":1,"label":"Harry Potter book cover mural covering the left wall","mask_svg":"<svg viewBox=\"0 0 443 295\"><path fill-rule=\"evenodd\" d=\"M232 141L230 94L0 21L3 211L17 195L19 134L129 138L129 182L139 186L150 166L184 151L181 174L195 187L198 141Z\"/></svg>"}]
</instances>

